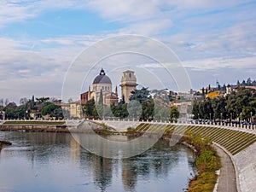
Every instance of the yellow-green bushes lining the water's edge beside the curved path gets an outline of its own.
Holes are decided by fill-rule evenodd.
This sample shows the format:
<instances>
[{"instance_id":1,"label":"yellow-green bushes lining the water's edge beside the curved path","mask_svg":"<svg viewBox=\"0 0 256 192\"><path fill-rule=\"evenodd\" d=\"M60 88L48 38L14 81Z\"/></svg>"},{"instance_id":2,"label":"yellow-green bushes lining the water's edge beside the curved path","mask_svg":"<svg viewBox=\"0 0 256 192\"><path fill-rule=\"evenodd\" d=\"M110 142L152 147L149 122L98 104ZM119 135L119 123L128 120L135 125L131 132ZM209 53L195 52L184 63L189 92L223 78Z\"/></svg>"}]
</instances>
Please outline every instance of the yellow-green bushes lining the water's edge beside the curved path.
<instances>
[{"instance_id":1,"label":"yellow-green bushes lining the water's edge beside the curved path","mask_svg":"<svg viewBox=\"0 0 256 192\"><path fill-rule=\"evenodd\" d=\"M216 150L212 147L211 139L203 139L200 135L187 131L181 142L187 143L195 149L197 174L190 179L187 191L212 192L218 178L216 171L220 169L221 162Z\"/></svg>"}]
</instances>

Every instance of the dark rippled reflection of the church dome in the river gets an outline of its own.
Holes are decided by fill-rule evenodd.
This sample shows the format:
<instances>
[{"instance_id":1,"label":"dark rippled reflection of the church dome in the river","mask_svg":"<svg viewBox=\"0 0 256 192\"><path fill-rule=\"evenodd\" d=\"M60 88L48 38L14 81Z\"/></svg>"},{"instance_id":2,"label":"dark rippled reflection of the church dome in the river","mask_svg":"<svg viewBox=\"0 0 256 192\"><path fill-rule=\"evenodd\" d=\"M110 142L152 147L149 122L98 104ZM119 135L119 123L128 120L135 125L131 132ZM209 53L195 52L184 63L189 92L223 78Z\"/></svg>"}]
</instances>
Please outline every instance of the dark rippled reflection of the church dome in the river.
<instances>
[{"instance_id":1,"label":"dark rippled reflection of the church dome in the river","mask_svg":"<svg viewBox=\"0 0 256 192\"><path fill-rule=\"evenodd\" d=\"M94 180L101 191L106 191L112 179L112 160L94 155Z\"/></svg>"}]
</instances>

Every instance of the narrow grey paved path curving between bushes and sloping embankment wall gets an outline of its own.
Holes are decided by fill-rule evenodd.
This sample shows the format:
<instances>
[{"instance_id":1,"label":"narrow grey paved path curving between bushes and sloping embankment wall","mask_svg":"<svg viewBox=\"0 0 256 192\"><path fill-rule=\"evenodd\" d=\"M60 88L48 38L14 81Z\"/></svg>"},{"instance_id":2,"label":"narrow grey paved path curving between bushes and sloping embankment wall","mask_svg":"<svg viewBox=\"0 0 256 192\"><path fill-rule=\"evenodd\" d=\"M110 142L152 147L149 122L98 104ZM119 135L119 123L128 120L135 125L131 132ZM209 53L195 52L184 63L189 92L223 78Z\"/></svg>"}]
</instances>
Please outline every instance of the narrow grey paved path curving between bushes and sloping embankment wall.
<instances>
[{"instance_id":1,"label":"narrow grey paved path curving between bushes and sloping embankment wall","mask_svg":"<svg viewBox=\"0 0 256 192\"><path fill-rule=\"evenodd\" d=\"M237 192L236 172L230 156L223 149L215 147L221 159L222 167L218 177L218 192Z\"/></svg>"}]
</instances>

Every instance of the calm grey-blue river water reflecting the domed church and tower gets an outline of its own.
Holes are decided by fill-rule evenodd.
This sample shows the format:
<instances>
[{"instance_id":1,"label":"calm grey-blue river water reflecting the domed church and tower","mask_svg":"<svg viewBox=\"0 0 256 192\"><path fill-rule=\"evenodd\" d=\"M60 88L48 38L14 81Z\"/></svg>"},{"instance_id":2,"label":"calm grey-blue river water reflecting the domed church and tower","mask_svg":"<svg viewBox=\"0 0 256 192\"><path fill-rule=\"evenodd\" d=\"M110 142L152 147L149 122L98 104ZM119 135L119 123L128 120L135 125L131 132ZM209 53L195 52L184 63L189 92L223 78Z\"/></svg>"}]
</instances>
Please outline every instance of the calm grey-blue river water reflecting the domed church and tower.
<instances>
[{"instance_id":1,"label":"calm grey-blue river water reflecting the domed church and tower","mask_svg":"<svg viewBox=\"0 0 256 192\"><path fill-rule=\"evenodd\" d=\"M177 192L195 172L193 152L165 141L112 160L90 154L68 133L0 132L0 140L13 143L0 152L1 192Z\"/></svg>"}]
</instances>

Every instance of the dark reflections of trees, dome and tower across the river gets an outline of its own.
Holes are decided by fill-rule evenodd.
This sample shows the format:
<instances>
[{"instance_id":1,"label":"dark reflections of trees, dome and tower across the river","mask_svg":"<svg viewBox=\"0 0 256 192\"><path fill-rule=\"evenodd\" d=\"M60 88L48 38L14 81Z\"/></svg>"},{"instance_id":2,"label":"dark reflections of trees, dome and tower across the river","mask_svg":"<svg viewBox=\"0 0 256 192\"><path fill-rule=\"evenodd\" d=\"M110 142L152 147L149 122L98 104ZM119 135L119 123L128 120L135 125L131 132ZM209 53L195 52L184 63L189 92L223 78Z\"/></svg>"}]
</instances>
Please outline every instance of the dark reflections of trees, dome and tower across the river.
<instances>
[{"instance_id":1,"label":"dark reflections of trees, dome and tower across the river","mask_svg":"<svg viewBox=\"0 0 256 192\"><path fill-rule=\"evenodd\" d=\"M122 175L119 177L122 177L124 189L126 191L136 191L138 180L146 181L154 177L169 177L170 172L177 166L181 158L189 160L189 167L195 164L193 152L191 155L187 155L189 152L184 153L184 150L187 150L186 148L181 148L178 145L170 148L169 143L164 141L156 143L153 148L135 157L124 160L110 160L90 154L80 148L73 141L73 137L67 133L13 132L9 136L7 135L4 140L15 141L18 142L18 146L28 147L24 154L32 161L32 165L37 160L47 164L52 159L68 156L76 162L80 161L81 170L91 175L94 183L101 191L107 191L108 186L111 185L114 167L117 170L122 169ZM119 164L120 161L121 164Z\"/></svg>"}]
</instances>

